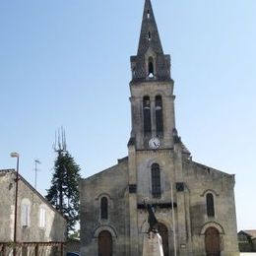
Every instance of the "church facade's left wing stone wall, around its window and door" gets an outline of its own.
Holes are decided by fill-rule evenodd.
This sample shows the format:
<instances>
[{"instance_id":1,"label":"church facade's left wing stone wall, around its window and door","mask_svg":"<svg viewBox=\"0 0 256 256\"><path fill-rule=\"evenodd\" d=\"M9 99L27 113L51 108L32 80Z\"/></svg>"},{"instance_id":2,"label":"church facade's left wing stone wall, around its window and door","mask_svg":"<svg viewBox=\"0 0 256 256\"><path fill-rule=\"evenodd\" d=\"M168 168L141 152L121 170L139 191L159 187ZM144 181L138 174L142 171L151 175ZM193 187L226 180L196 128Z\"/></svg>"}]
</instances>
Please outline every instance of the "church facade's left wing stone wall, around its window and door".
<instances>
[{"instance_id":1,"label":"church facade's left wing stone wall, around its window and door","mask_svg":"<svg viewBox=\"0 0 256 256\"><path fill-rule=\"evenodd\" d=\"M128 168L127 159L80 183L81 253L97 255L97 238L107 230L113 239L113 255L126 255L129 238L127 218ZM100 219L100 200L108 201L108 218ZM118 253L117 253L118 252Z\"/></svg>"}]
</instances>

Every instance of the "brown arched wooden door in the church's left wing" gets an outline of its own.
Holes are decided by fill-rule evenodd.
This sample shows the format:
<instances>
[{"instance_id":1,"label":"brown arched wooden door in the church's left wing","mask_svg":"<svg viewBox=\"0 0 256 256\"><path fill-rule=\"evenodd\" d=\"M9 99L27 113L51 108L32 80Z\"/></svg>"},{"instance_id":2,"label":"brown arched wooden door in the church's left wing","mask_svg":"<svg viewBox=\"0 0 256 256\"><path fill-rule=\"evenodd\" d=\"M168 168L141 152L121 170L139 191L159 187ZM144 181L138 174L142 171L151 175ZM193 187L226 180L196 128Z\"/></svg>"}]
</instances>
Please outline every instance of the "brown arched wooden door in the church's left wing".
<instances>
[{"instance_id":1,"label":"brown arched wooden door in the church's left wing","mask_svg":"<svg viewBox=\"0 0 256 256\"><path fill-rule=\"evenodd\" d=\"M98 234L98 256L112 256L113 241L110 232L103 230Z\"/></svg>"}]
</instances>

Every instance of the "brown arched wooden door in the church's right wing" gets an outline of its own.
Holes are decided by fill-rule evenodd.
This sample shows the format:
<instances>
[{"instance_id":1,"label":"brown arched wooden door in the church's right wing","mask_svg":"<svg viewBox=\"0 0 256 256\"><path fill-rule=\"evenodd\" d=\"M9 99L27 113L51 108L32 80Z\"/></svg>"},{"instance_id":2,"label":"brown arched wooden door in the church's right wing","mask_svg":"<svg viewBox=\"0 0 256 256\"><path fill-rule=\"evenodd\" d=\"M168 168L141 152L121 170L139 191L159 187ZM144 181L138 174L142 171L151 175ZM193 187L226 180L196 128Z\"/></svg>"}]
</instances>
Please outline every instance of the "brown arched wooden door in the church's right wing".
<instances>
[{"instance_id":1,"label":"brown arched wooden door in the church's right wing","mask_svg":"<svg viewBox=\"0 0 256 256\"><path fill-rule=\"evenodd\" d=\"M208 227L205 231L205 246L207 256L220 256L220 232L216 227Z\"/></svg>"}]
</instances>

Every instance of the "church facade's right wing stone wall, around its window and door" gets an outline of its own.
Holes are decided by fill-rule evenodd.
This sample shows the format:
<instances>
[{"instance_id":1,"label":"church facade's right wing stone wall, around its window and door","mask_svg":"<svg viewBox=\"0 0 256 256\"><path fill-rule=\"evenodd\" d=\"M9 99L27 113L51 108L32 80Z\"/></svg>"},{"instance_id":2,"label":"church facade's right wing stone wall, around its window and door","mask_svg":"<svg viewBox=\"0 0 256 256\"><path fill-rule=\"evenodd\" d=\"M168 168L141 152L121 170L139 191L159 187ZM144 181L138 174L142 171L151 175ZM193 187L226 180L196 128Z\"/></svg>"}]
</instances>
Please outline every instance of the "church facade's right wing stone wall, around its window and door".
<instances>
[{"instance_id":1,"label":"church facade's right wing stone wall, around its window and door","mask_svg":"<svg viewBox=\"0 0 256 256\"><path fill-rule=\"evenodd\" d=\"M215 227L221 236L224 255L238 255L234 203L234 175L185 160L184 181L189 189L191 231L194 253L204 255L205 231ZM206 194L214 196L215 216L207 215Z\"/></svg>"}]
</instances>

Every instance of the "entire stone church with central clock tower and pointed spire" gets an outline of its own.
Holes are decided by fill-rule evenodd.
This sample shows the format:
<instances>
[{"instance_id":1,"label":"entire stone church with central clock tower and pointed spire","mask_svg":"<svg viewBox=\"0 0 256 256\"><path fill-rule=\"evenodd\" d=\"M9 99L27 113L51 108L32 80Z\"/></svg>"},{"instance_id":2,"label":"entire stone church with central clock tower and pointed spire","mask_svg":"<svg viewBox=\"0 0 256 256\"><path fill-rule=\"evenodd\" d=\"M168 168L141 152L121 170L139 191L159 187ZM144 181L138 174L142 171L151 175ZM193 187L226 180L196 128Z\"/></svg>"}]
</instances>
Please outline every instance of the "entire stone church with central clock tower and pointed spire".
<instances>
[{"instance_id":1,"label":"entire stone church with central clock tower and pointed spire","mask_svg":"<svg viewBox=\"0 0 256 256\"><path fill-rule=\"evenodd\" d=\"M164 256L238 256L234 175L193 161L178 135L151 0L130 62L128 156L80 182L82 255L142 255L151 204Z\"/></svg>"}]
</instances>

